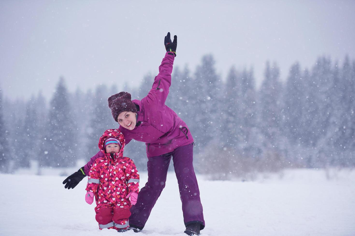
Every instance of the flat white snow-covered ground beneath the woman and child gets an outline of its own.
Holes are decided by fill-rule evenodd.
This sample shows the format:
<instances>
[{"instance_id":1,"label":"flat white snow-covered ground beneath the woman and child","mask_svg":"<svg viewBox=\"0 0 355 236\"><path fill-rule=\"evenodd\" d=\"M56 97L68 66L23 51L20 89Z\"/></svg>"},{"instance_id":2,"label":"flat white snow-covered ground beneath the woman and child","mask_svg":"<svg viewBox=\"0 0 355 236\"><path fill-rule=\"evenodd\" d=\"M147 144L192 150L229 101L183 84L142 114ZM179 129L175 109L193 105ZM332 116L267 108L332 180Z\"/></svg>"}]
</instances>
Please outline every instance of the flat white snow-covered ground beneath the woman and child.
<instances>
[{"instance_id":1,"label":"flat white snow-covered ground beneath the woman and child","mask_svg":"<svg viewBox=\"0 0 355 236\"><path fill-rule=\"evenodd\" d=\"M147 173L141 174L141 186ZM209 181L198 176L206 228L203 236L355 235L355 171L287 170L254 182ZM138 234L98 229L86 181L64 189L64 176L0 174L0 235L184 236L174 173Z\"/></svg>"}]
</instances>

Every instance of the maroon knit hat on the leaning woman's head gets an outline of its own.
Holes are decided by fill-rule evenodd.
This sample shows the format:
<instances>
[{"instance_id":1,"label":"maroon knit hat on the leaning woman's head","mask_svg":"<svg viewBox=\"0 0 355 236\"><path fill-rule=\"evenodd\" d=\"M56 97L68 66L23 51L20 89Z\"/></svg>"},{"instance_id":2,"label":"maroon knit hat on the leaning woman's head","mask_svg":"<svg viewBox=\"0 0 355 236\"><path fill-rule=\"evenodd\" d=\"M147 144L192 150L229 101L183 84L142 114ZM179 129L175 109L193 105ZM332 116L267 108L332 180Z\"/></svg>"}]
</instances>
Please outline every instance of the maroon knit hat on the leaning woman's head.
<instances>
[{"instance_id":1,"label":"maroon knit hat on the leaning woman's head","mask_svg":"<svg viewBox=\"0 0 355 236\"><path fill-rule=\"evenodd\" d=\"M111 114L115 121L117 121L117 117L122 111L132 111L137 113L136 105L132 103L130 93L116 93L115 95L109 97L108 103L109 108L111 109Z\"/></svg>"}]
</instances>

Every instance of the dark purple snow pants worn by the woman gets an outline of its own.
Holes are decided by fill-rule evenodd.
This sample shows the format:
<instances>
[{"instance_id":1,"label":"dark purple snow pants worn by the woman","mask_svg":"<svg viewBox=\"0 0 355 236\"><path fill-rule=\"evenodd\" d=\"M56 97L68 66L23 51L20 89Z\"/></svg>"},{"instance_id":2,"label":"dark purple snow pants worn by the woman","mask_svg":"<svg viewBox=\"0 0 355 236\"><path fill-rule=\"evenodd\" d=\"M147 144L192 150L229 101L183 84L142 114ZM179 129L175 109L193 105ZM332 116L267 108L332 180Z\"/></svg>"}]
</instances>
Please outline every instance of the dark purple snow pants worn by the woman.
<instances>
[{"instance_id":1,"label":"dark purple snow pants worn by the woman","mask_svg":"<svg viewBox=\"0 0 355 236\"><path fill-rule=\"evenodd\" d=\"M131 208L130 225L142 230L146 224L155 202L165 187L171 156L173 156L175 174L178 179L185 226L199 222L201 229L204 228L200 190L198 190L192 166L192 143L180 146L173 152L148 158L148 182L139 192L136 205ZM166 212L166 214L169 213Z\"/></svg>"}]
</instances>

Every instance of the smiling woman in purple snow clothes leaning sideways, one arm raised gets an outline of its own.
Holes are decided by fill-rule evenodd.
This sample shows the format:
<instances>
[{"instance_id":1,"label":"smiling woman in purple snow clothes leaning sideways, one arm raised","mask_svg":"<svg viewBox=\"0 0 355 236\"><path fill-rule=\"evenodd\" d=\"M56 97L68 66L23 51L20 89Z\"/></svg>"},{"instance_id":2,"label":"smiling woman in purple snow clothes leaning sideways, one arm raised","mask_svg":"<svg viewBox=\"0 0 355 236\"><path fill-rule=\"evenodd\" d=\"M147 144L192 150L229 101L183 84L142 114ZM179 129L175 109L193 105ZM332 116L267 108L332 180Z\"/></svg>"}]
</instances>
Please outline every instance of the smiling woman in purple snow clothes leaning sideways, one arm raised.
<instances>
[{"instance_id":1,"label":"smiling woman in purple snow clothes leaning sideways, one arm raised","mask_svg":"<svg viewBox=\"0 0 355 236\"><path fill-rule=\"evenodd\" d=\"M120 125L126 145L132 140L146 143L148 157L148 182L138 194L137 204L131 208L131 230L142 230L160 193L165 187L166 174L173 157L178 179L185 233L199 235L204 228L200 191L193 170L193 138L187 125L165 105L171 85L171 72L176 56L177 37L171 42L165 36L165 57L159 66L153 87L142 100L132 100L127 92L117 93L108 99L115 121ZM98 152L83 168L64 180L66 188L74 188L88 174L92 163L102 155Z\"/></svg>"}]
</instances>

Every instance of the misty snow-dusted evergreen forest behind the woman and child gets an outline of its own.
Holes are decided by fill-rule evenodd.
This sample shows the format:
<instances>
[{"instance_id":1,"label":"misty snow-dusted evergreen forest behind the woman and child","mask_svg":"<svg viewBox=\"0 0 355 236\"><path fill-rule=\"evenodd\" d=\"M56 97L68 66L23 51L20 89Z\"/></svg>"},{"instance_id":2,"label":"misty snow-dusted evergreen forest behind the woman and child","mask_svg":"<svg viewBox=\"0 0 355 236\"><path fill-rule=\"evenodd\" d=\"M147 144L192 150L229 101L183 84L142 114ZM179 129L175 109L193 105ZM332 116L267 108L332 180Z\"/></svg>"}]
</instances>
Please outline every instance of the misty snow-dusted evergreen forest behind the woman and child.
<instances>
[{"instance_id":1,"label":"misty snow-dusted evergreen forest behind the woman and child","mask_svg":"<svg viewBox=\"0 0 355 236\"><path fill-rule=\"evenodd\" d=\"M40 91L29 100L0 93L0 171L14 173L37 161L41 174L40 168L88 161L104 130L118 127L107 98L128 91L132 99L142 99L155 76L147 74L133 88L126 82L120 90L100 85L74 93L61 77L50 101ZM284 168L353 168L354 94L355 61L348 56L341 64L320 57L311 69L295 63L284 80L277 63L267 62L257 88L252 68L232 67L223 79L213 56L206 55L193 72L174 68L166 105L193 135L196 172L210 179L252 178ZM147 169L145 150L134 140L125 149L139 171Z\"/></svg>"}]
</instances>

